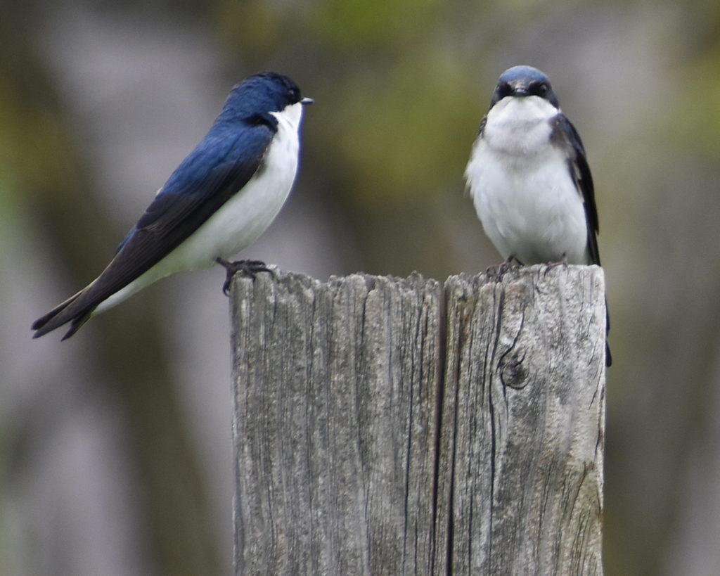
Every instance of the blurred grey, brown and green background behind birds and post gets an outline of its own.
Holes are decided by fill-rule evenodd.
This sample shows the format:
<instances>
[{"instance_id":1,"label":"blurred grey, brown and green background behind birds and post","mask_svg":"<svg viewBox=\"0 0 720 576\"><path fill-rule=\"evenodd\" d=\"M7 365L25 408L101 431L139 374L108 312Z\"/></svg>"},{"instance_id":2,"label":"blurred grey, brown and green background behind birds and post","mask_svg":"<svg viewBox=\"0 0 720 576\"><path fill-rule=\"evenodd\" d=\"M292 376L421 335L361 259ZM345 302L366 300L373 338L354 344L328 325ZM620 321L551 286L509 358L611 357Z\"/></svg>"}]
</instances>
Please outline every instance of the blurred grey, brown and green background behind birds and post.
<instances>
[{"instance_id":1,"label":"blurred grey, brown and green background behind birds and post","mask_svg":"<svg viewBox=\"0 0 720 576\"><path fill-rule=\"evenodd\" d=\"M498 75L549 74L595 178L612 313L608 575L720 565L720 4L6 0L0 573L231 571L228 301L180 274L31 341L241 78L291 76L302 167L241 256L327 279L497 264L462 178Z\"/></svg>"}]
</instances>

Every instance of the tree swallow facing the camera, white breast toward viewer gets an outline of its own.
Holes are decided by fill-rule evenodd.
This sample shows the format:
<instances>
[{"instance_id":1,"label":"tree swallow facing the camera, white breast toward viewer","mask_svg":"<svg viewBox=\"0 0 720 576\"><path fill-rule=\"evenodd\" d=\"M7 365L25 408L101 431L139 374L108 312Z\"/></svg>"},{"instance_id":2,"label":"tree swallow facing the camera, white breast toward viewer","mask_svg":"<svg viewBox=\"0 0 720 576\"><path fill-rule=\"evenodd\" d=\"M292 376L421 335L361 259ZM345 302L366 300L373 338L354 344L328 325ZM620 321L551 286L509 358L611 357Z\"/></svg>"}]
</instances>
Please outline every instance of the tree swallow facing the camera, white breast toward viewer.
<instances>
[{"instance_id":1,"label":"tree swallow facing the camera, white breast toward viewer","mask_svg":"<svg viewBox=\"0 0 720 576\"><path fill-rule=\"evenodd\" d=\"M500 75L465 179L482 227L505 265L513 259L600 265L598 211L585 148L537 68L513 66Z\"/></svg>"}]
</instances>

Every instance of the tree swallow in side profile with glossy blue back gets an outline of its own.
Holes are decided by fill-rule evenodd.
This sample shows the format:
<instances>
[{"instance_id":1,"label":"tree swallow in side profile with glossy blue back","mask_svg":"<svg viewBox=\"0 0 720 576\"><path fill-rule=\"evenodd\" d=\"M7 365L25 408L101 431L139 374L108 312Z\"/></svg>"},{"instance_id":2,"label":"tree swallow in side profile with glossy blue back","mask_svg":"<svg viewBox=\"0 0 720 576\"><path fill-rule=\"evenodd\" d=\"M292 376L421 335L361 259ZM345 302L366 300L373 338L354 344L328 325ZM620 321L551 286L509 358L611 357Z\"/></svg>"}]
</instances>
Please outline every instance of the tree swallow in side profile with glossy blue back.
<instances>
[{"instance_id":1,"label":"tree swallow in side profile with glossy blue back","mask_svg":"<svg viewBox=\"0 0 720 576\"><path fill-rule=\"evenodd\" d=\"M222 264L223 290L237 271L260 261L229 262L274 220L297 172L303 98L290 78L264 72L230 91L210 131L158 191L93 282L35 320L33 338L71 323L70 338L91 315L119 304L169 274Z\"/></svg>"}]
</instances>

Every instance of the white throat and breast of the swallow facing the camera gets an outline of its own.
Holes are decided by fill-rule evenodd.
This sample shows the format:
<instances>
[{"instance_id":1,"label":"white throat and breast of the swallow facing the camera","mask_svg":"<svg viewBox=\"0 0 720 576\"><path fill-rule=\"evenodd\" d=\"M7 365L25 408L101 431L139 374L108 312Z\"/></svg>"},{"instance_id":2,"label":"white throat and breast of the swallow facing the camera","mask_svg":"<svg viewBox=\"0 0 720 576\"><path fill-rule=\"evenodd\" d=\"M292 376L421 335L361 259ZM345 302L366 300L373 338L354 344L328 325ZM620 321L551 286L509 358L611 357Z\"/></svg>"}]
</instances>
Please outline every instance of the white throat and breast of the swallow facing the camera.
<instances>
[{"instance_id":1,"label":"white throat and breast of the swallow facing the camera","mask_svg":"<svg viewBox=\"0 0 720 576\"><path fill-rule=\"evenodd\" d=\"M558 110L537 96L505 98L487 114L465 171L485 233L503 258L588 264L588 225L564 150L552 145Z\"/></svg>"}]
</instances>

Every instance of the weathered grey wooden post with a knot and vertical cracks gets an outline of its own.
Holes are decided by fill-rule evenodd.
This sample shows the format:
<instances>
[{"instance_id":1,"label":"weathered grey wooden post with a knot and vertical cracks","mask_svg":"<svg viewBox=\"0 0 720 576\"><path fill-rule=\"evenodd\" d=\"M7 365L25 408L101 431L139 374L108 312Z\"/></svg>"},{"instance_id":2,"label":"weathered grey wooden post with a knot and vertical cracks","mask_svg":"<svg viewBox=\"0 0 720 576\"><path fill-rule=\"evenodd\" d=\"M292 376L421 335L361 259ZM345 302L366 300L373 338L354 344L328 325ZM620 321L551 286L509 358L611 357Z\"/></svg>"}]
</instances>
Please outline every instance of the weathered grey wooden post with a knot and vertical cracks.
<instances>
[{"instance_id":1,"label":"weathered grey wooden post with a knot and vertical cracks","mask_svg":"<svg viewBox=\"0 0 720 576\"><path fill-rule=\"evenodd\" d=\"M601 574L602 270L235 279L236 574Z\"/></svg>"}]
</instances>

